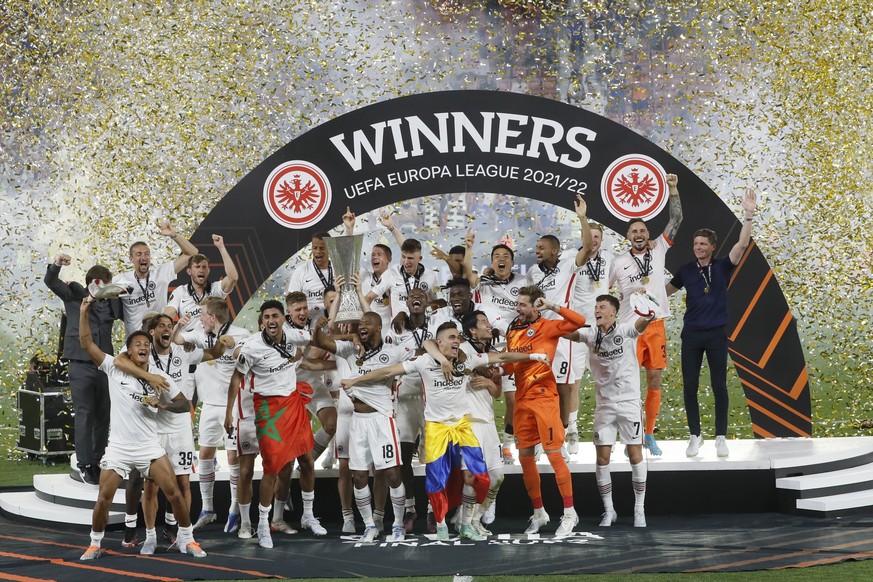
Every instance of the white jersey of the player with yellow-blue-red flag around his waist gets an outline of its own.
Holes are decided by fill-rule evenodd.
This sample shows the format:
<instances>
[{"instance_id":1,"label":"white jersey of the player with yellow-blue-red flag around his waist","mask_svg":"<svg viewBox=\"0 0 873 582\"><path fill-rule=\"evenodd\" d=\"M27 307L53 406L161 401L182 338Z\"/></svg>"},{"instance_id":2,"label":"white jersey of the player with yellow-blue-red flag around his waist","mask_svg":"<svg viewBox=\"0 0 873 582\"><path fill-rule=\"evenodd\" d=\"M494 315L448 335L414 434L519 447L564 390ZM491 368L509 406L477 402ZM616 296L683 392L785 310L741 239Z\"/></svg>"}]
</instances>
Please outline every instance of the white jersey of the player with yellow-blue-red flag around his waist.
<instances>
[{"instance_id":1,"label":"white jersey of the player with yellow-blue-red flag around his waist","mask_svg":"<svg viewBox=\"0 0 873 582\"><path fill-rule=\"evenodd\" d=\"M457 376L446 380L442 366L425 354L414 360L404 362L408 374L418 372L424 383L424 419L428 422L454 424L470 413L470 400L467 396L467 372L479 366L487 366L488 357L474 354L464 364L456 366Z\"/></svg>"}]
</instances>

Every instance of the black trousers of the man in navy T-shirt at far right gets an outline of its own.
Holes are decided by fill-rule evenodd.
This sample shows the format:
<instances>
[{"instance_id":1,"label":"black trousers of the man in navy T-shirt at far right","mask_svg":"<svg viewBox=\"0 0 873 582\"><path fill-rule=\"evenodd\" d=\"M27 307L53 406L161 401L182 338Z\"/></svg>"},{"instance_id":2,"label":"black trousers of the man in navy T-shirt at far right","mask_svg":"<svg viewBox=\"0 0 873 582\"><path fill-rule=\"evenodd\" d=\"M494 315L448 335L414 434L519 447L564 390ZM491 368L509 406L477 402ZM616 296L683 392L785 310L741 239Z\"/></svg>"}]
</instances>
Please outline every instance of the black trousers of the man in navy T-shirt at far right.
<instances>
[{"instance_id":1,"label":"black trousers of the man in navy T-shirt at far right","mask_svg":"<svg viewBox=\"0 0 873 582\"><path fill-rule=\"evenodd\" d=\"M712 395L715 397L715 434L727 435L727 331L714 327L702 331L682 330L682 391L685 397L685 414L688 430L700 434L700 405L697 392L700 387L700 370L703 355L709 364Z\"/></svg>"}]
</instances>

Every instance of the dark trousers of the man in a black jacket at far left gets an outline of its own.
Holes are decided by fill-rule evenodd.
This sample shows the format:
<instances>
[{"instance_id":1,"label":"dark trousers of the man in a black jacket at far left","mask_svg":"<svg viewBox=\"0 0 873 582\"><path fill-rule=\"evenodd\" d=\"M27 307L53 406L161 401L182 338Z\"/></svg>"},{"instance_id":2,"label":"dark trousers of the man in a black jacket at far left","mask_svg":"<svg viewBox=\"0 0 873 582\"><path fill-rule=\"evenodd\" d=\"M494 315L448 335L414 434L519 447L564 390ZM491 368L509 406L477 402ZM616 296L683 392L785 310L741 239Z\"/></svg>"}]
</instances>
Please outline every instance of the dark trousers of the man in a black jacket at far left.
<instances>
[{"instance_id":1,"label":"dark trousers of the man in a black jacket at far left","mask_svg":"<svg viewBox=\"0 0 873 582\"><path fill-rule=\"evenodd\" d=\"M70 393L76 417L76 460L96 465L109 440L109 379L97 366L70 362Z\"/></svg>"}]
</instances>

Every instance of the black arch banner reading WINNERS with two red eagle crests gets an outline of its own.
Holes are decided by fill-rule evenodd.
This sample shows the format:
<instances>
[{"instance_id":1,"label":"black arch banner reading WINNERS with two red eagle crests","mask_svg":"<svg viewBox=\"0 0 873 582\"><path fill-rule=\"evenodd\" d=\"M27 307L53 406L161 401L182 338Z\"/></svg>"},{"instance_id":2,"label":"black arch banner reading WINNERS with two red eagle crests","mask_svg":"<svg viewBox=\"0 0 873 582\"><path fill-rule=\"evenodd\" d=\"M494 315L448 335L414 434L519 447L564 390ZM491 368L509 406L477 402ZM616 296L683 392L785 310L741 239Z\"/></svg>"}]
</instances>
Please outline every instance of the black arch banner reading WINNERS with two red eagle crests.
<instances>
[{"instance_id":1,"label":"black arch banner reading WINNERS with two red eagle crests","mask_svg":"<svg viewBox=\"0 0 873 582\"><path fill-rule=\"evenodd\" d=\"M294 139L246 175L192 240L213 252L222 233L240 268L239 310L312 234L364 213L443 193L494 192L572 209L619 232L641 216L667 222L664 172L679 176L684 221L667 255L675 271L693 259L694 230L712 228L720 252L740 223L694 173L655 144L599 115L540 97L445 91L383 101ZM217 253L214 263L220 266ZM809 381L795 320L773 272L751 245L729 290L730 351L758 437L810 436Z\"/></svg>"}]
</instances>

